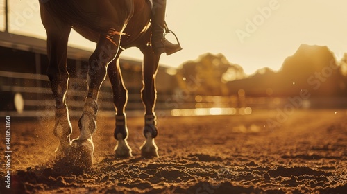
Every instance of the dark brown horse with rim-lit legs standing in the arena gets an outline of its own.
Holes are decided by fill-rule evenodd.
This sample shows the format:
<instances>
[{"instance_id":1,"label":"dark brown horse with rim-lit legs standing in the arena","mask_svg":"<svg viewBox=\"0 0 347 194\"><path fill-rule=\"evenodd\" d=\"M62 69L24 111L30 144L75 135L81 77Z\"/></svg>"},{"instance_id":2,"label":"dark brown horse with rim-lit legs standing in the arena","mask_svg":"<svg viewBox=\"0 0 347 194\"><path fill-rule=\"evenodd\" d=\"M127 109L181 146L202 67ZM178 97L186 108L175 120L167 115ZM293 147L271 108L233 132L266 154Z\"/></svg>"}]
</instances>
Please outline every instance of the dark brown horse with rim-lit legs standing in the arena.
<instances>
[{"instance_id":1,"label":"dark brown horse with rim-lit legs standing in the arena","mask_svg":"<svg viewBox=\"0 0 347 194\"><path fill-rule=\"evenodd\" d=\"M128 91L124 86L119 67L119 55L129 47L137 47L143 53L144 144L142 157L159 157L155 137L158 135L154 112L156 90L155 75L160 54L153 53L151 45L151 9L149 0L40 0L40 14L46 29L49 67L47 76L55 99L55 125L53 134L59 139L56 157L83 160L84 167L92 166L96 131L99 89L106 75L110 78L115 105L116 157L132 157L128 145L126 103ZM71 29L86 39L96 42L89 58L87 72L87 96L83 113L78 121L80 134L71 141L72 132L69 109L66 102L69 73L67 71L67 43ZM78 162L78 161L76 161Z\"/></svg>"}]
</instances>

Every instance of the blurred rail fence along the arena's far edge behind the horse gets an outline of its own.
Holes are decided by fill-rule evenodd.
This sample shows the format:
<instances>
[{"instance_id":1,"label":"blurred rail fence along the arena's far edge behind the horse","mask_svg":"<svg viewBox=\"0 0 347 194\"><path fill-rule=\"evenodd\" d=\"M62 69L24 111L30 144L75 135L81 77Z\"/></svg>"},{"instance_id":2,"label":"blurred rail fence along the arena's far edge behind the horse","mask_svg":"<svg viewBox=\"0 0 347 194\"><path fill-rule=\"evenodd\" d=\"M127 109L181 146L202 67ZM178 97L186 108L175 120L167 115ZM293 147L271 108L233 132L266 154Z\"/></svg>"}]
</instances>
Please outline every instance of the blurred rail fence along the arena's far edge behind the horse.
<instances>
[{"instance_id":1,"label":"blurred rail fence along the arena's far edge behind the horse","mask_svg":"<svg viewBox=\"0 0 347 194\"><path fill-rule=\"evenodd\" d=\"M44 75L0 71L0 116L53 116L53 94L49 79ZM129 91L136 91L130 89ZM86 80L70 78L67 104L71 116L81 116L87 96ZM140 91L128 94L128 116L142 116ZM246 96L201 96L182 93L167 94L158 91L155 109L171 116L204 114L247 114L252 109L277 109L290 105L288 98ZM325 105L325 106L323 106ZM22 106L22 109L21 109ZM347 107L346 98L310 98L303 102L304 108ZM300 107L301 108L301 107ZM99 95L99 115L115 116L112 89L109 80L103 83Z\"/></svg>"}]
</instances>

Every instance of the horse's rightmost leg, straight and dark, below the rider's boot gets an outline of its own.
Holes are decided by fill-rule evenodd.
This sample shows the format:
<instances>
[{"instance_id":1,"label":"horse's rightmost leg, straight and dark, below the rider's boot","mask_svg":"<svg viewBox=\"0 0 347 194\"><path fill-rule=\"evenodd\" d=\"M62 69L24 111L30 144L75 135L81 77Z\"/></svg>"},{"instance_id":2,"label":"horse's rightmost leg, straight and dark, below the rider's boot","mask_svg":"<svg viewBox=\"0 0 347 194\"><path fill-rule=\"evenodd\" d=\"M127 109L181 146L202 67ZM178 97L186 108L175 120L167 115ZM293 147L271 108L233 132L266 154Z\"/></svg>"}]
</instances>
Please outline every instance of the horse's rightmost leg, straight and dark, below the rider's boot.
<instances>
[{"instance_id":1,"label":"horse's rightmost leg, straight and dark, below the rider's boot","mask_svg":"<svg viewBox=\"0 0 347 194\"><path fill-rule=\"evenodd\" d=\"M146 141L141 146L142 157L158 157L158 147L154 138L158 135L156 116L154 113L157 91L155 89L155 76L158 71L160 55L154 55L151 49L145 49L143 65L142 102L146 109L144 115L144 137Z\"/></svg>"}]
</instances>

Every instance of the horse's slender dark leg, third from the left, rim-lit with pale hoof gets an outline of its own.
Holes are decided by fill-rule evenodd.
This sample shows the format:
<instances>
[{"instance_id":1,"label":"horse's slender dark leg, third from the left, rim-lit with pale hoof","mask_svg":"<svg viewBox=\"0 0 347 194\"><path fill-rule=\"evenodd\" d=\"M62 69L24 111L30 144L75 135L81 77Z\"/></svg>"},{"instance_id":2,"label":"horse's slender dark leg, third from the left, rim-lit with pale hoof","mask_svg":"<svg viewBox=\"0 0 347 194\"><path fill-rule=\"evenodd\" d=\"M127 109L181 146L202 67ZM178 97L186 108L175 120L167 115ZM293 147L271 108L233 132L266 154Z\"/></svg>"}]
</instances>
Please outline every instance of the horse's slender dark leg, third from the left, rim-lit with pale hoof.
<instances>
[{"instance_id":1,"label":"horse's slender dark leg, third from the left, rim-lit with pale hoof","mask_svg":"<svg viewBox=\"0 0 347 194\"><path fill-rule=\"evenodd\" d=\"M128 138L128 128L126 127L126 102L128 99L128 91L124 86L123 78L121 77L121 69L119 67L119 53L115 58L115 64L108 66L108 77L113 90L113 103L116 109L116 127L115 127L115 139L117 139L117 145L115 147L116 157L131 157L131 148L128 145L126 139Z\"/></svg>"}]
</instances>

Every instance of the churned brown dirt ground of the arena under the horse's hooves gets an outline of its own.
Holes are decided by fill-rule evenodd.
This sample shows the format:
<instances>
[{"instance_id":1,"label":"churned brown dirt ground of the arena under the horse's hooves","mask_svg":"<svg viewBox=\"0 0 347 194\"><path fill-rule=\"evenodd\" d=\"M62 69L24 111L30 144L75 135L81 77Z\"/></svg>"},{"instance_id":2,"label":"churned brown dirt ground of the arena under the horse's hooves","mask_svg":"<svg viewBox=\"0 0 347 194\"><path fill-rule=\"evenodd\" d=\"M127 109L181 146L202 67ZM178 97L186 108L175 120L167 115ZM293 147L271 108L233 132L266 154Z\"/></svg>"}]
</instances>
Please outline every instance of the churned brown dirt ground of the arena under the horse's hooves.
<instances>
[{"instance_id":1,"label":"churned brown dirt ground of the arena under the horse's hooves","mask_svg":"<svg viewBox=\"0 0 347 194\"><path fill-rule=\"evenodd\" d=\"M98 118L84 172L55 166L53 119L11 118L11 188L2 159L0 193L346 193L346 118L335 109L159 118L154 159L140 156L143 118L128 119L130 159L114 157L114 119Z\"/></svg>"}]
</instances>

